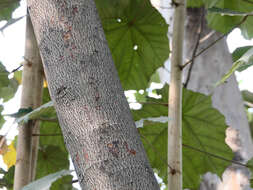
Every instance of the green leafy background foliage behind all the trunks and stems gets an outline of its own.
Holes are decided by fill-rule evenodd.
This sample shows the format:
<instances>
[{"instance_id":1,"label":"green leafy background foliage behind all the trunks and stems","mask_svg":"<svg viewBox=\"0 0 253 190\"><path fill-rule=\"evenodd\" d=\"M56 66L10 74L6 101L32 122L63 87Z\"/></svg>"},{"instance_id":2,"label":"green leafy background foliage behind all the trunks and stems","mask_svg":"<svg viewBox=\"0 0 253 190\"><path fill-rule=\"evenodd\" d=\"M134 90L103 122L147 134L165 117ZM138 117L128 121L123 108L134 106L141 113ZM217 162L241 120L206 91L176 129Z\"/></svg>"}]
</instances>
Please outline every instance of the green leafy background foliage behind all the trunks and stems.
<instances>
[{"instance_id":1,"label":"green leafy background foliage behind all the trunks and stems","mask_svg":"<svg viewBox=\"0 0 253 190\"><path fill-rule=\"evenodd\" d=\"M216 11L209 9L207 21L211 28L222 33L229 32L242 21L244 16L238 16L238 13L244 14L253 10L253 3L243 0L189 0L187 2L190 7L216 8ZM18 5L17 0L0 0L0 21L7 20L9 21L7 24L12 23L11 14ZM142 107L140 110L132 110L132 113L137 126L142 121L138 129L152 167L166 182L167 120L164 118L168 116L168 86L165 85L163 89L157 90L156 94L161 95L159 99L149 97L146 89L149 88L151 76L169 57L168 25L149 1L96 0L96 5L122 86L125 90L144 89L143 95L138 92L135 94L137 101L142 103ZM245 38L253 38L253 18L248 17L240 25L240 29ZM234 62L242 60L250 48L252 47L248 46L235 50ZM250 55L249 59L236 69L243 70L251 65ZM9 78L10 74L0 62L1 102L6 102L13 97L21 81L21 71L15 72L14 78ZM153 75L153 81L154 77L156 82L159 82L157 75ZM48 90L44 88L43 103L46 104L49 101ZM3 106L0 105L0 112L2 110ZM19 117L16 121L22 123L29 119L42 118L37 179L69 168L68 153L52 104L46 104ZM0 127L4 122L1 116ZM220 175L227 167L228 162L205 153L210 152L232 159L232 152L224 142L225 129L225 119L212 108L209 96L184 90L183 182L185 188L196 189L201 175L205 172L211 171ZM1 184L11 189L14 167L1 173L4 174ZM58 174L62 173L57 173L54 179L58 179L60 176ZM52 175L46 180L49 180L46 182L51 184ZM52 190L72 189L71 176L65 176L59 180L53 183ZM45 178L42 182L45 182Z\"/></svg>"}]
</instances>

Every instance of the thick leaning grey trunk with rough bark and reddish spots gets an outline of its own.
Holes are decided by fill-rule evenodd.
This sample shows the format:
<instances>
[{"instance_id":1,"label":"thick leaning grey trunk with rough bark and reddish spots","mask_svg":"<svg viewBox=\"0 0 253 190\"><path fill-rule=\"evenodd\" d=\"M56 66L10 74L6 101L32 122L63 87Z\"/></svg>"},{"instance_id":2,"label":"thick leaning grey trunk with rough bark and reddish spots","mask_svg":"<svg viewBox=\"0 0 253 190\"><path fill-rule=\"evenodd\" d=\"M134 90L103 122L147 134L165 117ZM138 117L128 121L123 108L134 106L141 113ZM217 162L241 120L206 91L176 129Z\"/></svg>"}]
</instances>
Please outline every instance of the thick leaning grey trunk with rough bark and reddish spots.
<instances>
[{"instance_id":1,"label":"thick leaning grey trunk with rough bark and reddish spots","mask_svg":"<svg viewBox=\"0 0 253 190\"><path fill-rule=\"evenodd\" d=\"M93 0L29 0L28 10L82 189L158 190Z\"/></svg>"}]
</instances>

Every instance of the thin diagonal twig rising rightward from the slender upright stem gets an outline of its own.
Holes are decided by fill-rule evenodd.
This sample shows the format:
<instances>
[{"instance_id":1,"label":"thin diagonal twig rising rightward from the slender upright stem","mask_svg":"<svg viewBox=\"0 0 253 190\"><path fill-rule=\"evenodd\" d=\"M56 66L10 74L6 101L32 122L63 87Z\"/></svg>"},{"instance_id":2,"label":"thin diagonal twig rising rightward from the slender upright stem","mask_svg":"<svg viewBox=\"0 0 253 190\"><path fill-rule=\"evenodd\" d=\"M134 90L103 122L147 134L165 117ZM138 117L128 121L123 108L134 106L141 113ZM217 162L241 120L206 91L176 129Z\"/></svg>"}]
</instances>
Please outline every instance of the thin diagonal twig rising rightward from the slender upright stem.
<instances>
[{"instance_id":1,"label":"thin diagonal twig rising rightward from the slender upright stem","mask_svg":"<svg viewBox=\"0 0 253 190\"><path fill-rule=\"evenodd\" d=\"M194 59L198 56L200 56L202 53L204 53L206 50L208 50L209 48L211 48L213 45L215 45L218 41L222 40L225 36L227 36L228 34L230 34L235 28L239 27L241 24L243 24L246 19L248 18L249 15L246 15L243 17L243 19L236 25L234 26L231 30L229 30L227 33L221 35L219 38L217 38L215 41L213 41L212 43L210 43L206 48L203 48L199 53L197 53L194 57ZM187 61L184 65L181 66L181 68L185 68L188 64L192 63L192 59Z\"/></svg>"}]
</instances>

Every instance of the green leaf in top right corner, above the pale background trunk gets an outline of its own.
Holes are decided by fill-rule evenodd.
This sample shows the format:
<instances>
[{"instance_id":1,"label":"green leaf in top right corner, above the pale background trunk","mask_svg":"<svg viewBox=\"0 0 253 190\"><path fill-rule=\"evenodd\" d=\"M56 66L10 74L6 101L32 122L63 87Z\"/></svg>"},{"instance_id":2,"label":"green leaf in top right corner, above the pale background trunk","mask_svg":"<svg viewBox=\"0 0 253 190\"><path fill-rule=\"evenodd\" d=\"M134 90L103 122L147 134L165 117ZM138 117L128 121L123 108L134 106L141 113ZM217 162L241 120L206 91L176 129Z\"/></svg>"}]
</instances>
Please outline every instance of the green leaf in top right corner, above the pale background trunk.
<instances>
[{"instance_id":1,"label":"green leaf in top right corner, above the pale background trunk","mask_svg":"<svg viewBox=\"0 0 253 190\"><path fill-rule=\"evenodd\" d=\"M244 16L245 13L251 14L253 10L252 3L242 0L220 0L213 6L215 6L215 8L208 11L208 25L222 33L229 32L242 21L242 16ZM228 14L233 16L228 16ZM240 29L245 38L252 38L253 17L249 16L247 20L240 25Z\"/></svg>"}]
</instances>

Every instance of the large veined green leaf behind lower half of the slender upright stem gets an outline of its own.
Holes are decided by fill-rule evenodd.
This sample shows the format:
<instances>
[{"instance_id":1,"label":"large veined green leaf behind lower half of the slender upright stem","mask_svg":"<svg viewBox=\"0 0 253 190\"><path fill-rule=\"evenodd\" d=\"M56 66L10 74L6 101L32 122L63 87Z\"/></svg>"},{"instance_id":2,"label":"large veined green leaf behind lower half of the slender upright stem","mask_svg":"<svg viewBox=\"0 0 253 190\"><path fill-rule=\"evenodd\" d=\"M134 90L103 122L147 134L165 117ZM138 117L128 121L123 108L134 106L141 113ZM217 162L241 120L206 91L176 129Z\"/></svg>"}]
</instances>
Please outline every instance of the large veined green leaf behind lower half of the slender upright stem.
<instances>
[{"instance_id":1,"label":"large veined green leaf behind lower half of the slender upright stem","mask_svg":"<svg viewBox=\"0 0 253 190\"><path fill-rule=\"evenodd\" d=\"M150 117L168 115L168 86L158 90L162 99L147 98L141 110L133 110L135 120L144 120L138 128L144 147L153 168L167 181L167 123L147 121ZM233 154L225 144L225 118L212 107L210 96L189 90L183 91L182 105L183 143L190 147L232 159ZM184 188L196 189L201 175L210 171L221 174L229 163L208 154L183 147Z\"/></svg>"}]
</instances>

